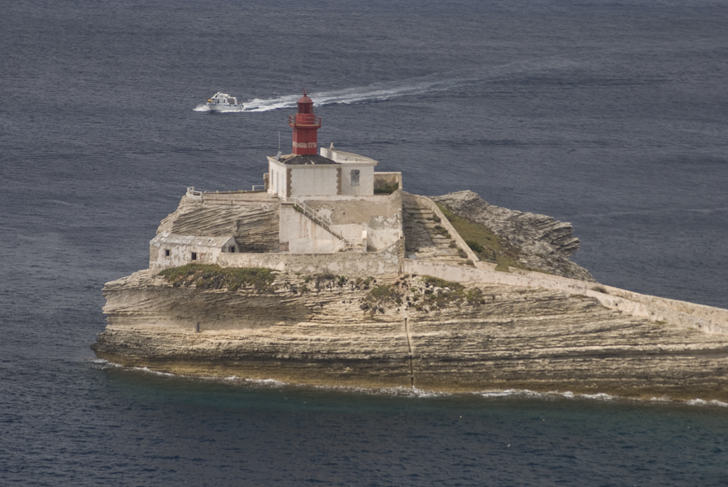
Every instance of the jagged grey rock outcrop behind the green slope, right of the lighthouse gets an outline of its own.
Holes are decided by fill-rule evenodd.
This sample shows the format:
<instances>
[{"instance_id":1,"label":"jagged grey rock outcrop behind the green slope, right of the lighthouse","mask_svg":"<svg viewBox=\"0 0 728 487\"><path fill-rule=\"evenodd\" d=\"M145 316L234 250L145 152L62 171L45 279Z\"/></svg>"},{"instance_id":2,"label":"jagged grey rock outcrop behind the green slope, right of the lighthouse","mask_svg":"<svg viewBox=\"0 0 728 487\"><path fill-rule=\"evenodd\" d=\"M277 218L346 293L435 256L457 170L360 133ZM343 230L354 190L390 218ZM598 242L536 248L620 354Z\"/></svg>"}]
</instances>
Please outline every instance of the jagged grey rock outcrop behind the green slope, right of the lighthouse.
<instances>
[{"instance_id":1,"label":"jagged grey rock outcrop behind the green slope, right of the lighthouse","mask_svg":"<svg viewBox=\"0 0 728 487\"><path fill-rule=\"evenodd\" d=\"M580 245L570 223L554 220L547 215L489 205L472 191L458 191L432 199L460 216L485 225L496 235L520 248L522 254L519 262L524 267L572 279L595 281L588 270L569 260Z\"/></svg>"}]
</instances>

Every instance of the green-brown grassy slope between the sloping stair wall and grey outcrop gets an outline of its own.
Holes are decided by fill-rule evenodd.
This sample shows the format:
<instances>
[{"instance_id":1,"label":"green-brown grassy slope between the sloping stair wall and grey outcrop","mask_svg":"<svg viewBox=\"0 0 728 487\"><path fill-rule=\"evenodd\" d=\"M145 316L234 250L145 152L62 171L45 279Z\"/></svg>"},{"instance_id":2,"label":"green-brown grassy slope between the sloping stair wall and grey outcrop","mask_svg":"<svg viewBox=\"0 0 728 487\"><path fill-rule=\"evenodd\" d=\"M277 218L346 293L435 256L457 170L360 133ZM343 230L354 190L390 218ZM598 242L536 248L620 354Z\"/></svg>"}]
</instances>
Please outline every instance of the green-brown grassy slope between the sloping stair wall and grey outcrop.
<instances>
[{"instance_id":1,"label":"green-brown grassy slope between the sloping stair wall and grey outcrop","mask_svg":"<svg viewBox=\"0 0 728 487\"><path fill-rule=\"evenodd\" d=\"M526 269L518 263L521 254L518 247L511 245L485 225L453 213L442 203L437 203L437 206L480 260L497 264L496 269L499 271L507 272L509 266Z\"/></svg>"}]
</instances>

